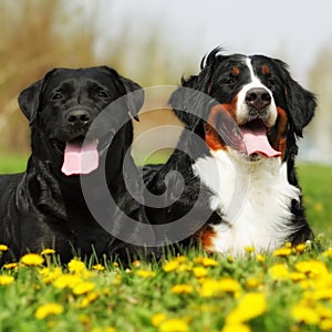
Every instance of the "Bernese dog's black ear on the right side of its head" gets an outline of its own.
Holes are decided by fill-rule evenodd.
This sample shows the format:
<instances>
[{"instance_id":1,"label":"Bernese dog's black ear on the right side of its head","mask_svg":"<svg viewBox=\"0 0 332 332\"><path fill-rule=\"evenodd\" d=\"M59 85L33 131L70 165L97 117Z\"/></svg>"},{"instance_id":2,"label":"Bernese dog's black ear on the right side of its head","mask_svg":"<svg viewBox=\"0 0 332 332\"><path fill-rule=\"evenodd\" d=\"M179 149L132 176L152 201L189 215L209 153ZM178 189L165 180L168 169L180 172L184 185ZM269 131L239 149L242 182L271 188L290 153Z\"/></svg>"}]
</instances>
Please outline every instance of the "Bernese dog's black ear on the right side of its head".
<instances>
[{"instance_id":1,"label":"Bernese dog's black ear on the right side of its head","mask_svg":"<svg viewBox=\"0 0 332 332\"><path fill-rule=\"evenodd\" d=\"M287 65L279 61L283 71L283 84L286 102L289 111L289 116L291 117L295 134L302 137L302 129L309 124L314 115L317 107L315 95L303 89L297 81L294 81Z\"/></svg>"}]
</instances>

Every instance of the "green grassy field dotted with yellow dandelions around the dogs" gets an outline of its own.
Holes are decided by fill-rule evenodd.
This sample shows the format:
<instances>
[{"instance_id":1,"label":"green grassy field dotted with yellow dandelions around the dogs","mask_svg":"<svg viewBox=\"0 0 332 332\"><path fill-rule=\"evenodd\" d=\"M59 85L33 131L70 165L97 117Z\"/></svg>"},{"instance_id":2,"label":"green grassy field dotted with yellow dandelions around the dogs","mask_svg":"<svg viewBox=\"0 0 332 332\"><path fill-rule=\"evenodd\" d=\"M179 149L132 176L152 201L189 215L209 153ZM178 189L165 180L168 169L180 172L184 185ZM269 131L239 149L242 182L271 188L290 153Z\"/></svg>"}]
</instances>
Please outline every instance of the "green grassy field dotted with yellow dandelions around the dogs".
<instances>
[{"instance_id":1,"label":"green grassy field dotted with yellow dandelions around the dogs","mask_svg":"<svg viewBox=\"0 0 332 332\"><path fill-rule=\"evenodd\" d=\"M332 331L332 168L299 175L315 243L238 259L190 250L127 269L29 255L0 271L0 331Z\"/></svg>"}]
</instances>

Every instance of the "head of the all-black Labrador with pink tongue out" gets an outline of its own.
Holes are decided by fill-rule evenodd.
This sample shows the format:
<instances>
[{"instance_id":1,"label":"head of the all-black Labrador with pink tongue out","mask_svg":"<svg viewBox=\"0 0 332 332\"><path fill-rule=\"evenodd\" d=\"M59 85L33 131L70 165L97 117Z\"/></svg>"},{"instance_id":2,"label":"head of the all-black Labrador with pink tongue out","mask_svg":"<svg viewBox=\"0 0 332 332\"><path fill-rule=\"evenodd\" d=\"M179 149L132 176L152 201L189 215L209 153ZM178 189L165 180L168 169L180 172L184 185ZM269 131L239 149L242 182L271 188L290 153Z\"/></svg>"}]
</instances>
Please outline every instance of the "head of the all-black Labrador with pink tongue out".
<instances>
[{"instance_id":1,"label":"head of the all-black Labrador with pink tongue out","mask_svg":"<svg viewBox=\"0 0 332 332\"><path fill-rule=\"evenodd\" d=\"M143 104L144 93L138 84L107 66L50 71L43 80L22 91L19 96L20 107L32 128L33 154L39 154L41 145L46 146L46 153L40 155L49 159L50 155L62 158L62 172L65 175L94 170L108 142L100 142L96 135L95 139L83 145L85 135L108 104L133 91L137 93L126 97L115 115L127 117L128 122L128 113L137 118ZM34 144L37 139L43 142ZM83 154L91 162L91 165L83 166L85 169L80 163Z\"/></svg>"}]
</instances>

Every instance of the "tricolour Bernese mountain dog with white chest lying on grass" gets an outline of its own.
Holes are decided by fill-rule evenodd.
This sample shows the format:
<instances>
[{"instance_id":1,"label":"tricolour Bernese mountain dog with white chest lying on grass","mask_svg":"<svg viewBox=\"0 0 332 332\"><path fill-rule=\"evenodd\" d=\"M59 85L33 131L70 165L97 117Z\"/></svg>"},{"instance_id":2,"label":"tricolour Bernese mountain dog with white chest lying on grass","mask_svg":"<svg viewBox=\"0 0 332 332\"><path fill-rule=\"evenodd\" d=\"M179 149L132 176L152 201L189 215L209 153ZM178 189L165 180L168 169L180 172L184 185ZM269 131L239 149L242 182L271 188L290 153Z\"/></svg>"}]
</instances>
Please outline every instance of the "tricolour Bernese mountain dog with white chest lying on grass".
<instances>
[{"instance_id":1,"label":"tricolour Bernese mountain dog with white chest lying on grass","mask_svg":"<svg viewBox=\"0 0 332 332\"><path fill-rule=\"evenodd\" d=\"M159 237L229 255L312 239L294 162L314 94L264 55L217 48L200 69L169 100L185 124L176 149L144 169L147 189L163 200L146 207L149 220L181 221Z\"/></svg>"}]
</instances>

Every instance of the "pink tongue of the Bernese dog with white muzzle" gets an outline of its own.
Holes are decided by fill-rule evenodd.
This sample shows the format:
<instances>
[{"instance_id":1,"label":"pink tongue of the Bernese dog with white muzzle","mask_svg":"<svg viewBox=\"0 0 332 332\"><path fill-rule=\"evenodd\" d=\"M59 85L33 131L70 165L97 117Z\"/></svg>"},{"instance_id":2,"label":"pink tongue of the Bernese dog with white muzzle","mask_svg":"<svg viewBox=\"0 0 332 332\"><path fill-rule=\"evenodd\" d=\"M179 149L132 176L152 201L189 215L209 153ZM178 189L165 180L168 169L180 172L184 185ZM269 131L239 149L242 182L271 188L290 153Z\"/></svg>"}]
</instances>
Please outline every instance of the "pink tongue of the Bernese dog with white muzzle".
<instances>
[{"instance_id":1,"label":"pink tongue of the Bernese dog with white muzzle","mask_svg":"<svg viewBox=\"0 0 332 332\"><path fill-rule=\"evenodd\" d=\"M279 157L281 153L276 151L269 143L267 129L263 126L240 127L246 144L248 156L262 154L268 158Z\"/></svg>"}]
</instances>

